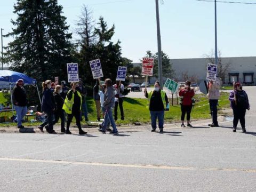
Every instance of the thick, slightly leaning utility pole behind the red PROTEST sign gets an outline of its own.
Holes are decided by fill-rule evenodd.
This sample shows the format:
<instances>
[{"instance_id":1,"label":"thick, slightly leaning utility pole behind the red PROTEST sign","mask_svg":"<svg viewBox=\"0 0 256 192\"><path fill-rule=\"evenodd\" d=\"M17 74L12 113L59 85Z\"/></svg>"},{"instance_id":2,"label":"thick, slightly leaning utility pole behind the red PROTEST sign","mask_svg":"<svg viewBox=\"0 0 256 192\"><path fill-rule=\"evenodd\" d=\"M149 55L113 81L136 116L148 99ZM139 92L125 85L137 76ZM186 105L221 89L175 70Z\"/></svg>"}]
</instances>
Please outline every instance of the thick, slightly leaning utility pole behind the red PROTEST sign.
<instances>
[{"instance_id":1,"label":"thick, slightly leaning utility pole behind the red PROTEST sign","mask_svg":"<svg viewBox=\"0 0 256 192\"><path fill-rule=\"evenodd\" d=\"M156 25L157 25L157 47L158 47L158 77L159 77L159 82L162 85L163 84L162 46L161 46L158 0L156 0Z\"/></svg>"}]
</instances>

